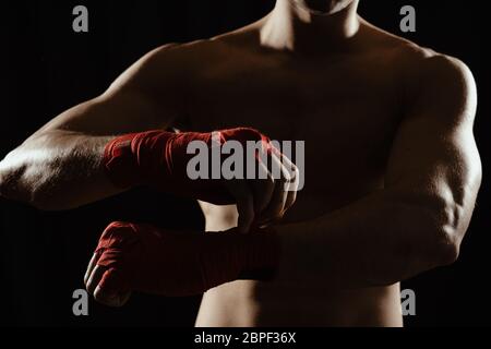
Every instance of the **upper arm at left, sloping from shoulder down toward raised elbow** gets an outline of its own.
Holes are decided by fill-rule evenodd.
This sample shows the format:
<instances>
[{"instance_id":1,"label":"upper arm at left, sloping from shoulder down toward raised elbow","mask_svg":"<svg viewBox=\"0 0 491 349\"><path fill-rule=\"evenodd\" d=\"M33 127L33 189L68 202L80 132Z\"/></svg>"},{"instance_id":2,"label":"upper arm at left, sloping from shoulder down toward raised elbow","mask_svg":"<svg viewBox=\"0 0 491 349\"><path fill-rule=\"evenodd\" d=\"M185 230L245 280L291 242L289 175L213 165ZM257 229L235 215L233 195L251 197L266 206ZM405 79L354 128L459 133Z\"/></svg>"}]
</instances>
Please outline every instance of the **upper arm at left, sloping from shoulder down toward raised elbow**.
<instances>
[{"instance_id":1,"label":"upper arm at left, sloping from shoulder down toward raised elbow","mask_svg":"<svg viewBox=\"0 0 491 349\"><path fill-rule=\"evenodd\" d=\"M183 108L178 51L164 46L147 53L101 96L61 113L36 134L63 130L98 136L169 127Z\"/></svg>"}]
</instances>

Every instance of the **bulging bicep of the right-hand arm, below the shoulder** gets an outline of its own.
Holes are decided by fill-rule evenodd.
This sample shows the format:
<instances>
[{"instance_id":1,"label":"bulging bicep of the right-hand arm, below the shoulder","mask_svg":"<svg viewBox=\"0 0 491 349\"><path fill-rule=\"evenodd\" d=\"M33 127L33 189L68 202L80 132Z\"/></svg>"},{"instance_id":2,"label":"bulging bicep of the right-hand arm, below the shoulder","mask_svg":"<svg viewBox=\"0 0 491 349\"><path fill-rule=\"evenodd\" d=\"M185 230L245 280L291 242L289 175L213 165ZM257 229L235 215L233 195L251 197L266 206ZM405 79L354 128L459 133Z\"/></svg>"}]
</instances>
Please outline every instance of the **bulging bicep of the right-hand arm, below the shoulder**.
<instances>
[{"instance_id":1,"label":"bulging bicep of the right-hand arm, below the shoulder","mask_svg":"<svg viewBox=\"0 0 491 349\"><path fill-rule=\"evenodd\" d=\"M407 200L439 196L463 205L480 183L480 171L469 125L448 128L438 120L415 118L398 132L385 186Z\"/></svg>"}]
</instances>

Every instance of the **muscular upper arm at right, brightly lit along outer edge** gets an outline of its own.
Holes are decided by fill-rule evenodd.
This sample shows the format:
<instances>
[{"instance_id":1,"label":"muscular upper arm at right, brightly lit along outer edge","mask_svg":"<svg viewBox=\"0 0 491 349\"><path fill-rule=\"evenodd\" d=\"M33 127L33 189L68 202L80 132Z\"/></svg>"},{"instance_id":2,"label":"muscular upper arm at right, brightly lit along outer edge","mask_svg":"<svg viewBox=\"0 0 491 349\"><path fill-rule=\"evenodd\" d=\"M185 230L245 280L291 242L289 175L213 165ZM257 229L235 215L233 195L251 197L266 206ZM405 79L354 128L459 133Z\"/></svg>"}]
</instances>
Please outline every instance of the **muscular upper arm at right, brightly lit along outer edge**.
<instances>
[{"instance_id":1,"label":"muscular upper arm at right, brightly lit along outer edge","mask_svg":"<svg viewBox=\"0 0 491 349\"><path fill-rule=\"evenodd\" d=\"M463 233L481 183L474 137L476 84L460 61L424 58L409 84L409 105L393 144L385 188L403 201L434 209Z\"/></svg>"}]
</instances>

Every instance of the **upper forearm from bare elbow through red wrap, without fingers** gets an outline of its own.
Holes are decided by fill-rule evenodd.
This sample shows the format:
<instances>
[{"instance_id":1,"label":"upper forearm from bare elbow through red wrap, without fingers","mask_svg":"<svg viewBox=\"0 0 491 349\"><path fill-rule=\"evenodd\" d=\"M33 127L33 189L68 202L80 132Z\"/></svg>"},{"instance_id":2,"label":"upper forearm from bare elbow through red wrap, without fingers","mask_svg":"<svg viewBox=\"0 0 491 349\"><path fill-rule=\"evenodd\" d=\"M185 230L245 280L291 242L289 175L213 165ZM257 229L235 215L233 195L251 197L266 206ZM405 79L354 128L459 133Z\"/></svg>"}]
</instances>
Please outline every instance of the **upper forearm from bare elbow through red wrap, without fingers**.
<instances>
[{"instance_id":1,"label":"upper forearm from bare elbow through red wrap, without fingers","mask_svg":"<svg viewBox=\"0 0 491 349\"><path fill-rule=\"evenodd\" d=\"M219 142L260 141L252 129L219 132ZM215 204L232 204L223 181L192 180L193 142L213 146L212 133L147 131L117 137L62 130L41 131L0 167L2 195L43 209L68 209L137 185Z\"/></svg>"}]
</instances>

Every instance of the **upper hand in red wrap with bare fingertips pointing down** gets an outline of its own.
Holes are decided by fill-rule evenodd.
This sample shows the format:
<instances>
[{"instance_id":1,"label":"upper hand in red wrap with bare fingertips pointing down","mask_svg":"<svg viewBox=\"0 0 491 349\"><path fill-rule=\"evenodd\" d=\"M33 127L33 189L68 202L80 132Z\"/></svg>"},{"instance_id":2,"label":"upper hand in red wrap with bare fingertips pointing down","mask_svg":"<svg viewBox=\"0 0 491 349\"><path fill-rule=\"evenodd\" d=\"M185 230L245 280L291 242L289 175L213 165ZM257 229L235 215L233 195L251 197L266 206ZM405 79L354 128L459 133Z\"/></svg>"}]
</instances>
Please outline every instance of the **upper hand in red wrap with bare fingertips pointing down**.
<instances>
[{"instance_id":1,"label":"upper hand in red wrap with bare fingertips pointing down","mask_svg":"<svg viewBox=\"0 0 491 349\"><path fill-rule=\"evenodd\" d=\"M196 141L204 143L207 151L230 141L239 142L243 147L250 141L260 142L256 153L243 153L253 156L244 159L244 164L255 161L254 168L259 169L255 178L262 173L264 176L260 178L264 179L192 180L188 166L194 155L189 154L188 146ZM212 157L206 157L205 161ZM239 228L244 232L252 225L264 226L280 219L295 203L299 184L297 167L273 146L267 136L249 128L213 133L149 131L124 135L106 146L104 166L109 179L119 188L146 184L215 205L237 204ZM207 164L207 168L212 166L216 165Z\"/></svg>"}]
</instances>

